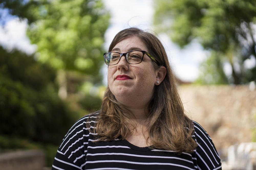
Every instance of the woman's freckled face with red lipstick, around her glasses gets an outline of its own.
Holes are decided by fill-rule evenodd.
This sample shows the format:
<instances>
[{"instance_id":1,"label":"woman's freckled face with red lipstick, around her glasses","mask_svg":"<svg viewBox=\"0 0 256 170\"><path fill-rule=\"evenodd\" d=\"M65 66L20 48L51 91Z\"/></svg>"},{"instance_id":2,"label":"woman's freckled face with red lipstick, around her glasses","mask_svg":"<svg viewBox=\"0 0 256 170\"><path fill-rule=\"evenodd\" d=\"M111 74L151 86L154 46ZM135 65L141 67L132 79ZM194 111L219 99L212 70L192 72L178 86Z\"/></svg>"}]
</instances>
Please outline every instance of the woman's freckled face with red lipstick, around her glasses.
<instances>
[{"instance_id":1,"label":"woman's freckled face with red lipstick, around her glasses","mask_svg":"<svg viewBox=\"0 0 256 170\"><path fill-rule=\"evenodd\" d=\"M136 36L123 39L111 51L126 53L131 50L148 52L146 45ZM148 104L154 93L156 76L152 60L146 54L139 64L129 64L122 56L118 64L108 67L109 89L126 106Z\"/></svg>"}]
</instances>

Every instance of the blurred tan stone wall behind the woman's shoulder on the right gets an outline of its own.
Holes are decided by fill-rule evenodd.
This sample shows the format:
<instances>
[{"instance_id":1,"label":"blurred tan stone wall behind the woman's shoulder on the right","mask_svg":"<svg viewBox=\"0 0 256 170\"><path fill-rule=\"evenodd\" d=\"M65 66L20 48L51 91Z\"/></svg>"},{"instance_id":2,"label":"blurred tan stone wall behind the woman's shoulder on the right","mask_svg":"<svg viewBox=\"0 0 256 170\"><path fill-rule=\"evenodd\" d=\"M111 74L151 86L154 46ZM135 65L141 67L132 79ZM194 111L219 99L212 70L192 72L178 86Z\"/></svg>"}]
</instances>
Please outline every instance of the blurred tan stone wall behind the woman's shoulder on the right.
<instances>
[{"instance_id":1,"label":"blurred tan stone wall behind the woman's shoulder on the right","mask_svg":"<svg viewBox=\"0 0 256 170\"><path fill-rule=\"evenodd\" d=\"M256 90L249 86L179 86L187 114L209 133L219 154L230 145L252 141Z\"/></svg>"}]
</instances>

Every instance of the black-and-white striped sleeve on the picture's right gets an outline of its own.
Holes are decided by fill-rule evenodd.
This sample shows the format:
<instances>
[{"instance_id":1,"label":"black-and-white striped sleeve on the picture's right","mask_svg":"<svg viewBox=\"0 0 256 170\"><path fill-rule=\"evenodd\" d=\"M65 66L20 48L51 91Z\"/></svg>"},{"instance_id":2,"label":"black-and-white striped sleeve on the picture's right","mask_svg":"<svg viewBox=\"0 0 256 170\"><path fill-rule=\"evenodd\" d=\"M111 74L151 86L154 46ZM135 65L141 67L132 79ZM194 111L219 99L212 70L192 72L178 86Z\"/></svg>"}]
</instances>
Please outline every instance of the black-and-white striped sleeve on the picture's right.
<instances>
[{"instance_id":1,"label":"black-and-white striped sleeve on the picture's right","mask_svg":"<svg viewBox=\"0 0 256 170\"><path fill-rule=\"evenodd\" d=\"M197 168L208 170L220 170L221 162L217 150L208 133L196 122L194 122Z\"/></svg>"}]
</instances>

